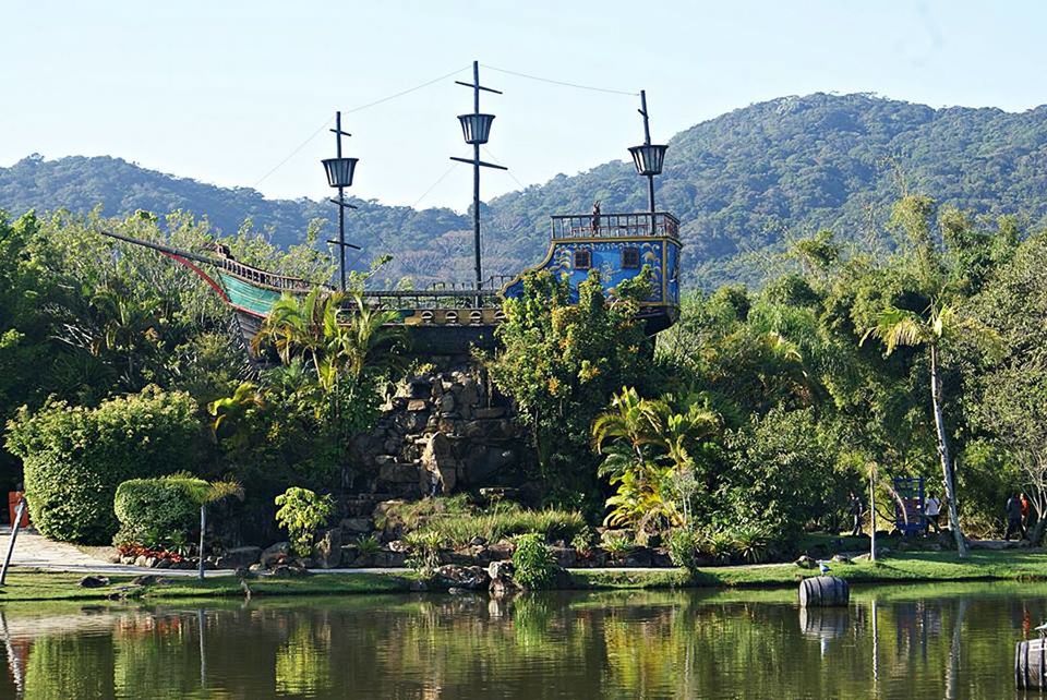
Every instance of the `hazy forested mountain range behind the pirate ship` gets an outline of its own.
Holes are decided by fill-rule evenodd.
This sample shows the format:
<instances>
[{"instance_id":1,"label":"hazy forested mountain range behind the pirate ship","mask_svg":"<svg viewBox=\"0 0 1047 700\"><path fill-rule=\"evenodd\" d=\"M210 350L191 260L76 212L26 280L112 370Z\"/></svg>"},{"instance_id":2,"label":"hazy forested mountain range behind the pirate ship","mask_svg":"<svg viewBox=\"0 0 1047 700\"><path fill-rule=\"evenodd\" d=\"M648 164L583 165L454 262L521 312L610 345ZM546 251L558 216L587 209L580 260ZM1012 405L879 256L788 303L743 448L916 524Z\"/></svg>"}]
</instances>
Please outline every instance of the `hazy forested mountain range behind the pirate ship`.
<instances>
[{"instance_id":1,"label":"hazy forested mountain range behind the pirate ship","mask_svg":"<svg viewBox=\"0 0 1047 700\"><path fill-rule=\"evenodd\" d=\"M882 240L890 204L904 193L982 214L1022 214L1033 225L1047 216L1047 107L1009 113L816 94L751 105L669 143L659 208L683 221L691 285L751 278L754 254L791 233L828 227L844 240ZM640 209L645 183L623 160L489 202L486 269L537 263L547 217L588 212L594 200L605 213ZM469 278L466 216L356 203L353 238L369 253L395 255L390 276ZM323 203L265 200L251 189L215 188L115 158L35 156L0 169L0 208L12 214L98 204L107 215L188 209L225 232L250 217L285 245L301 241L311 219L333 215Z\"/></svg>"}]
</instances>

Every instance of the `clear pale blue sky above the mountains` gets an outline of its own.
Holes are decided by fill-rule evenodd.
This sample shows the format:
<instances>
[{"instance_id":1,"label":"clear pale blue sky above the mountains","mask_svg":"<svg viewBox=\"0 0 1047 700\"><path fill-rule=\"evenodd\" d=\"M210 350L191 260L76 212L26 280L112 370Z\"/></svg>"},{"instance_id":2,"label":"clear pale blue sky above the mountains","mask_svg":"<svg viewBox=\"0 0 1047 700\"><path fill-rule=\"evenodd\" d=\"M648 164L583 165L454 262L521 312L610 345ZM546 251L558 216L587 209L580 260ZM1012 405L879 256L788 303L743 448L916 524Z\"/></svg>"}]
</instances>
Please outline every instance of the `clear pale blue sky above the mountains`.
<instances>
[{"instance_id":1,"label":"clear pale blue sky above the mountains","mask_svg":"<svg viewBox=\"0 0 1047 700\"><path fill-rule=\"evenodd\" d=\"M326 196L322 129L350 110L481 63L648 90L655 141L755 101L868 92L1018 111L1047 101L1047 3L844 1L181 0L0 7L0 165L38 152L112 155L267 196ZM457 75L468 80L466 70ZM623 158L637 99L481 69L494 123L484 198ZM345 117L352 193L464 209L468 156L454 77ZM672 157L670 152L669 157ZM515 179L514 179L515 178Z\"/></svg>"}]
</instances>

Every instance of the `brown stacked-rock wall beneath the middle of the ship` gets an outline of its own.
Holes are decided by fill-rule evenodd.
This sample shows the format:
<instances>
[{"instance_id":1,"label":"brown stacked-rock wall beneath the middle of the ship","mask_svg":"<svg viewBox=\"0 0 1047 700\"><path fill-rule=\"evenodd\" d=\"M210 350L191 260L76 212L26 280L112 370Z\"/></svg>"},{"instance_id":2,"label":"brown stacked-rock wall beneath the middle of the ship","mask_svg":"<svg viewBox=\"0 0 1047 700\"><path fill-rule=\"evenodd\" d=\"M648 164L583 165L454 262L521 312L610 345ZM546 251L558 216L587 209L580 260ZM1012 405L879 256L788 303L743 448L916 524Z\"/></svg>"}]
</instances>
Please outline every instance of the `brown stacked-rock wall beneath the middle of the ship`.
<instances>
[{"instance_id":1,"label":"brown stacked-rock wall beneath the middle of the ship","mask_svg":"<svg viewBox=\"0 0 1047 700\"><path fill-rule=\"evenodd\" d=\"M527 436L515 410L473 363L445 361L412 376L354 445L351 491L420 498L519 483Z\"/></svg>"}]
</instances>

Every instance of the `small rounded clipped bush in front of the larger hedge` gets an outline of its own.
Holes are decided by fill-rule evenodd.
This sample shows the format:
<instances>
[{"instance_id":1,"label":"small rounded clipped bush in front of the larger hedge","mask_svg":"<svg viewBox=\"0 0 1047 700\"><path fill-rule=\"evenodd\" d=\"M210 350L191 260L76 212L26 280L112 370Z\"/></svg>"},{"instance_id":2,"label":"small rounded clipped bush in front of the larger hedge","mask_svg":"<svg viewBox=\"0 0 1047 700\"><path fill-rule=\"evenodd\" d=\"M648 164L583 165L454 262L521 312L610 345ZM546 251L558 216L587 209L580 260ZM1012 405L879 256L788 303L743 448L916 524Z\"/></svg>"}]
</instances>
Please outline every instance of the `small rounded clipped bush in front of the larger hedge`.
<instances>
[{"instance_id":1,"label":"small rounded clipped bush in front of the larger hedge","mask_svg":"<svg viewBox=\"0 0 1047 700\"><path fill-rule=\"evenodd\" d=\"M132 479L117 487L113 510L120 520L115 543L164 547L184 542L198 506L177 482Z\"/></svg>"}]
</instances>

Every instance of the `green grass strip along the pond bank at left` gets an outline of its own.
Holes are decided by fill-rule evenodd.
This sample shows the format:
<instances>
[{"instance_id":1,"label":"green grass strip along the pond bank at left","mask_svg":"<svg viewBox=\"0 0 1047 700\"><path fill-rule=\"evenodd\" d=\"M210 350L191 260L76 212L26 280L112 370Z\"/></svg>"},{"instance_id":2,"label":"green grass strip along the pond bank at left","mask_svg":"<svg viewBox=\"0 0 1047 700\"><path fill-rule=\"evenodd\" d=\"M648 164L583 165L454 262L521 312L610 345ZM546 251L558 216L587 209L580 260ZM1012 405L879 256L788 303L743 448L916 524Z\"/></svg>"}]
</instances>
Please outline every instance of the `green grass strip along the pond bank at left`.
<instances>
[{"instance_id":1,"label":"green grass strip along the pond bank at left","mask_svg":"<svg viewBox=\"0 0 1047 700\"><path fill-rule=\"evenodd\" d=\"M132 587L131 576L110 576L109 586L80 587L80 574L52 571L13 571L7 586L0 588L0 603L8 601L103 601L121 588L130 587L129 598L144 600L228 598L243 599L240 580L231 576L214 576L203 581L170 577L167 582ZM300 579L252 579L248 581L252 596L350 595L358 593L404 593L410 590L413 575L359 572L352 575L315 574Z\"/></svg>"}]
</instances>

